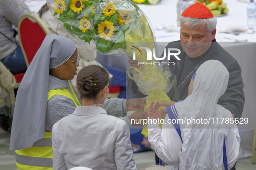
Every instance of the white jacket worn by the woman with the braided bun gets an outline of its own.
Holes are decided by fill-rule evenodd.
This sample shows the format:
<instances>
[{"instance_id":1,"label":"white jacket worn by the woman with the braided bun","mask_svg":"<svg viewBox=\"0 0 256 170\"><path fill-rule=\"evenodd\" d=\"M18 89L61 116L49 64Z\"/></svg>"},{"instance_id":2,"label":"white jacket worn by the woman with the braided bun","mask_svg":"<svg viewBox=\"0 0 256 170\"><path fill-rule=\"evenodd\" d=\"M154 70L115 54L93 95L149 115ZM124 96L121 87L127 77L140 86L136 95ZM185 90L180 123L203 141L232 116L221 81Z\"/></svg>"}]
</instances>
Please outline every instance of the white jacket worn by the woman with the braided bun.
<instances>
[{"instance_id":1,"label":"white jacket worn by the woman with the braided bun","mask_svg":"<svg viewBox=\"0 0 256 170\"><path fill-rule=\"evenodd\" d=\"M136 170L126 122L100 106L78 106L52 128L53 170Z\"/></svg>"}]
</instances>

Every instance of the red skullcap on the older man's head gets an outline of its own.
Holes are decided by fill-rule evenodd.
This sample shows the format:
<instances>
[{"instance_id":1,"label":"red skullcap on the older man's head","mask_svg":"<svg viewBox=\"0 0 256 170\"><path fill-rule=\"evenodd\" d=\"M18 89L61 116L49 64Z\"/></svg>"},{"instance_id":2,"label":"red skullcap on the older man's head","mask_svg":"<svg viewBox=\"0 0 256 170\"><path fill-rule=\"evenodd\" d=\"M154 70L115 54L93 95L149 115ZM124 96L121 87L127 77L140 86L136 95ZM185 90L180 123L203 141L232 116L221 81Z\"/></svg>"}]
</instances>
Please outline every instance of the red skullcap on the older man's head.
<instances>
[{"instance_id":1,"label":"red skullcap on the older man's head","mask_svg":"<svg viewBox=\"0 0 256 170\"><path fill-rule=\"evenodd\" d=\"M186 10L183 11L181 16L199 19L208 19L214 17L209 8L201 3L195 3L189 6Z\"/></svg>"}]
</instances>

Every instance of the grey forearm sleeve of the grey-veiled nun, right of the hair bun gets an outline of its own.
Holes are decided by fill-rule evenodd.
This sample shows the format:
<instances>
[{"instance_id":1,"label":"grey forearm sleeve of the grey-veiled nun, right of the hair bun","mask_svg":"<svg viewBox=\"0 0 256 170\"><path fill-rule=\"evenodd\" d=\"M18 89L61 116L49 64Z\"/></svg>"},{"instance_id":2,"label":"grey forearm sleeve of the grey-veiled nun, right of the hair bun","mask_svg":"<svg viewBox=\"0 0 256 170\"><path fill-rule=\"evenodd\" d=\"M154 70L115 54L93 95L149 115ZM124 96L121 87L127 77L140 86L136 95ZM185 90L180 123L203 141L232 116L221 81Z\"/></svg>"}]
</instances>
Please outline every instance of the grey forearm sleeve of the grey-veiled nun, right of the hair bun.
<instances>
[{"instance_id":1,"label":"grey forearm sleeve of the grey-veiled nun, right of the hair bun","mask_svg":"<svg viewBox=\"0 0 256 170\"><path fill-rule=\"evenodd\" d=\"M127 113L126 100L127 99L119 98L106 99L103 107L107 111L108 115L113 115L116 117L124 116Z\"/></svg>"}]
</instances>

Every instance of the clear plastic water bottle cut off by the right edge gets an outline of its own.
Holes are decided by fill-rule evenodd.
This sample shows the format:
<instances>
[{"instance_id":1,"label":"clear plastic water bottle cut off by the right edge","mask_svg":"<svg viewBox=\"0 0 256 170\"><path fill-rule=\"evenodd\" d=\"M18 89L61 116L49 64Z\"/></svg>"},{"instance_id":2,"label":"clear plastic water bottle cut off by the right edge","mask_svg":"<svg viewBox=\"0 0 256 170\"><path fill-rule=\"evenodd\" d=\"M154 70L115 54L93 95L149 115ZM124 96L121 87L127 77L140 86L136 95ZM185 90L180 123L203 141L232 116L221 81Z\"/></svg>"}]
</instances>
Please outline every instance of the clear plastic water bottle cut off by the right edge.
<instances>
[{"instance_id":1,"label":"clear plastic water bottle cut off by the right edge","mask_svg":"<svg viewBox=\"0 0 256 170\"><path fill-rule=\"evenodd\" d=\"M247 27L249 28L248 33L256 32L256 5L253 0L247 6Z\"/></svg>"}]
</instances>

